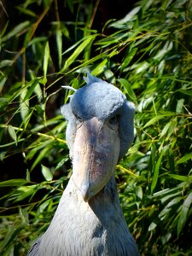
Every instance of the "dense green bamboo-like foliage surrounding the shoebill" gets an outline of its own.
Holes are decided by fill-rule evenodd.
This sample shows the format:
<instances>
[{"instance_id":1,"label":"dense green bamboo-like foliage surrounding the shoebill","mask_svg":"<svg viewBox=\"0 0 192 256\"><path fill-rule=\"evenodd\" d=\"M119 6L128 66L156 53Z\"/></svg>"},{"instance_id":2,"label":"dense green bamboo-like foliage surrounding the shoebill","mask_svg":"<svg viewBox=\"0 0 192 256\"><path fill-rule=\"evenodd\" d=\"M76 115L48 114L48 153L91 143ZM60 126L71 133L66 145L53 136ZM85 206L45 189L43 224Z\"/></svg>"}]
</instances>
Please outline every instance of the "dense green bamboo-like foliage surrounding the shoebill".
<instances>
[{"instance_id":1,"label":"dense green bamboo-like foliage surrounding the shoebill","mask_svg":"<svg viewBox=\"0 0 192 256\"><path fill-rule=\"evenodd\" d=\"M78 89L90 71L136 104L135 141L116 176L141 253L190 255L192 2L141 0L102 31L91 29L83 1L66 3L75 22L60 20L57 1L25 1L18 24L5 22L0 35L0 157L20 154L26 166L0 183L0 253L26 255L53 217L71 173L59 110L71 92L61 85ZM53 7L49 31L39 32Z\"/></svg>"}]
</instances>

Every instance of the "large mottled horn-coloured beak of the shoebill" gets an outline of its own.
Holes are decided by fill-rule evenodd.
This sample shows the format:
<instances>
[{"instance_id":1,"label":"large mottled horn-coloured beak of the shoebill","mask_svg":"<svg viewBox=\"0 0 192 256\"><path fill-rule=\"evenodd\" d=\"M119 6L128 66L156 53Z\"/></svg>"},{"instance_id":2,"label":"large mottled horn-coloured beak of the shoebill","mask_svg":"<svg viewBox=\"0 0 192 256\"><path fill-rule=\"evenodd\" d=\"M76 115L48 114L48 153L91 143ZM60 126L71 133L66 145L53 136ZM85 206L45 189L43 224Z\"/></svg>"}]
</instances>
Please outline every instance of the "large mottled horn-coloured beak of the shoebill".
<instances>
[{"instance_id":1,"label":"large mottled horn-coloured beak of the shoebill","mask_svg":"<svg viewBox=\"0 0 192 256\"><path fill-rule=\"evenodd\" d=\"M73 181L84 201L101 191L119 160L119 132L96 118L79 125L73 145Z\"/></svg>"}]
</instances>

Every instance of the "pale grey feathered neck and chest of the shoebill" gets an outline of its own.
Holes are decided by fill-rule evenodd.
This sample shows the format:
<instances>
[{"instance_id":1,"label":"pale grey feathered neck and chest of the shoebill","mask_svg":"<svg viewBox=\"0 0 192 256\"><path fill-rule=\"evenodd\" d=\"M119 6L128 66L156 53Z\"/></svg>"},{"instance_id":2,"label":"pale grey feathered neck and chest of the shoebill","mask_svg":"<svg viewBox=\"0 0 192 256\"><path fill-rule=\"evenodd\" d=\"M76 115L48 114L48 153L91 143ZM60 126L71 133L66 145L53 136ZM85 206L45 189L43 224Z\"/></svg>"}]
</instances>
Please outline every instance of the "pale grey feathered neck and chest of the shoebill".
<instances>
[{"instance_id":1,"label":"pale grey feathered neck and chest of the shoebill","mask_svg":"<svg viewBox=\"0 0 192 256\"><path fill-rule=\"evenodd\" d=\"M89 204L70 179L37 253L28 254L34 255L138 256L120 208L114 177Z\"/></svg>"}]
</instances>

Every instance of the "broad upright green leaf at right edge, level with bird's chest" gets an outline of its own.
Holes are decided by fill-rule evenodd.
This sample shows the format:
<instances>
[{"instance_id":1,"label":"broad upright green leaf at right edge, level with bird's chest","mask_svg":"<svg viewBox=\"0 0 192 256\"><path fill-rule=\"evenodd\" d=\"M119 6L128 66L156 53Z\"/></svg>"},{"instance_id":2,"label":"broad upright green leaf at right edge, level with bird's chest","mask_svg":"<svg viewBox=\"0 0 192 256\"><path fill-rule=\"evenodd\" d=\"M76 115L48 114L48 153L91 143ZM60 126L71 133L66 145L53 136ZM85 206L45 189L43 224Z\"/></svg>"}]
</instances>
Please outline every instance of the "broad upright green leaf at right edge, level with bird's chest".
<instances>
[{"instance_id":1,"label":"broad upright green leaf at right edge, level with bird's chest","mask_svg":"<svg viewBox=\"0 0 192 256\"><path fill-rule=\"evenodd\" d=\"M183 207L180 212L180 217L178 219L178 224L177 224L177 236L180 235L180 233L183 230L183 227L188 219L188 212L189 212L189 207L190 207L191 203L192 203L192 192L189 193L189 195L183 202Z\"/></svg>"}]
</instances>

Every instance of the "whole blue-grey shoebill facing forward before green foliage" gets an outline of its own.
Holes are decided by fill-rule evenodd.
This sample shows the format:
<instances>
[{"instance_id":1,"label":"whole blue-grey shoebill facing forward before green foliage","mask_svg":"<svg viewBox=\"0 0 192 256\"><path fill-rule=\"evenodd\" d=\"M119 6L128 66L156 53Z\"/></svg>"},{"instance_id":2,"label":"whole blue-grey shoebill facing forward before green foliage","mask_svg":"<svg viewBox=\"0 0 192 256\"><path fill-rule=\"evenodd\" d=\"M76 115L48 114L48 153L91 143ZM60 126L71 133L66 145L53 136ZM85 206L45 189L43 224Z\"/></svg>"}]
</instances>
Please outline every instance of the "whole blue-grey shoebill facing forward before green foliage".
<instances>
[{"instance_id":1,"label":"whole blue-grey shoebill facing forward before green foliage","mask_svg":"<svg viewBox=\"0 0 192 256\"><path fill-rule=\"evenodd\" d=\"M134 105L88 74L61 108L73 174L33 256L138 256L119 203L114 168L133 140Z\"/></svg>"}]
</instances>

